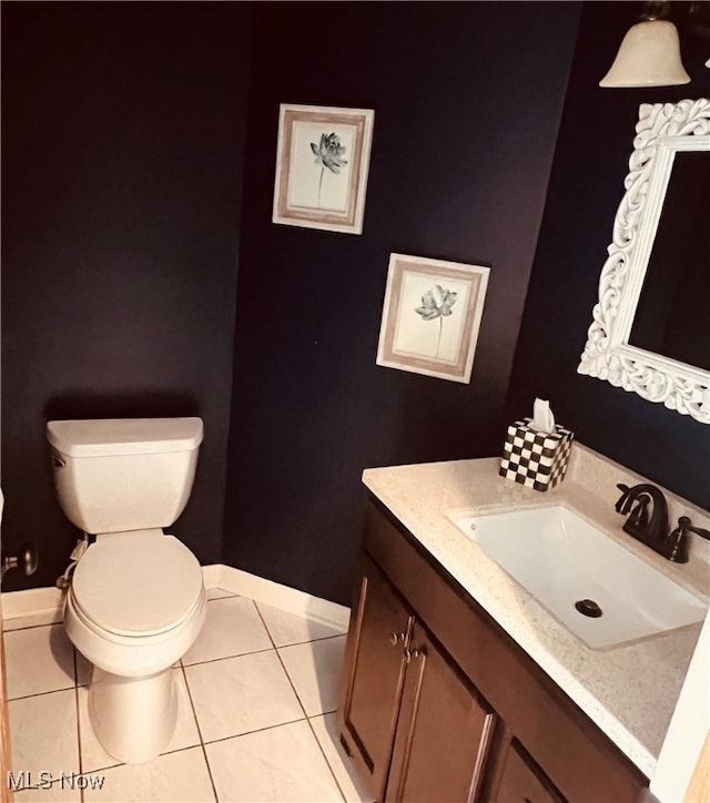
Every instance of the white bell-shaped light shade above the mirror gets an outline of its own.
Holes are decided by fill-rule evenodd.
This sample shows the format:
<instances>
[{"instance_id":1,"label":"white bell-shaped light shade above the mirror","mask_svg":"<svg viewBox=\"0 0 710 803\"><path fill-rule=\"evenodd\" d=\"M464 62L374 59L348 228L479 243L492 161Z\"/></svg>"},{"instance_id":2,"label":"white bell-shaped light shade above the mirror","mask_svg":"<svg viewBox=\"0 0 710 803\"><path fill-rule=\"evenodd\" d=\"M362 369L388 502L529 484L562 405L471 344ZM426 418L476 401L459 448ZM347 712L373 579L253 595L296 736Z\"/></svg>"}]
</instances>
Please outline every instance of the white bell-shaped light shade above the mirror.
<instances>
[{"instance_id":1,"label":"white bell-shaped light shade above the mirror","mask_svg":"<svg viewBox=\"0 0 710 803\"><path fill-rule=\"evenodd\" d=\"M680 60L676 26L643 20L629 28L600 87L676 87L690 83Z\"/></svg>"}]
</instances>

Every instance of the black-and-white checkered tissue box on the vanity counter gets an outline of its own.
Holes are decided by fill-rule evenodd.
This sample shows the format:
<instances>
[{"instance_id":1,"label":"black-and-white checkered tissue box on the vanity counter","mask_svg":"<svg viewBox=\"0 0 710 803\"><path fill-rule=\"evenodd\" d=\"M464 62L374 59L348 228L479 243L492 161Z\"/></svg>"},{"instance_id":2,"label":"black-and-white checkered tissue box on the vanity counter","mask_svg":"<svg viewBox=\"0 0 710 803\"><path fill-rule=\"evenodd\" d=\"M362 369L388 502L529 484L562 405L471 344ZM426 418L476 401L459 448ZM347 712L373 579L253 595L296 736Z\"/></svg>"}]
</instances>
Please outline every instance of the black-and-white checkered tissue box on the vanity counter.
<instances>
[{"instance_id":1,"label":"black-and-white checkered tissue box on the vanity counter","mask_svg":"<svg viewBox=\"0 0 710 803\"><path fill-rule=\"evenodd\" d=\"M565 478L575 434L559 425L549 435L538 433L530 420L508 427L498 474L535 490L549 490Z\"/></svg>"}]
</instances>

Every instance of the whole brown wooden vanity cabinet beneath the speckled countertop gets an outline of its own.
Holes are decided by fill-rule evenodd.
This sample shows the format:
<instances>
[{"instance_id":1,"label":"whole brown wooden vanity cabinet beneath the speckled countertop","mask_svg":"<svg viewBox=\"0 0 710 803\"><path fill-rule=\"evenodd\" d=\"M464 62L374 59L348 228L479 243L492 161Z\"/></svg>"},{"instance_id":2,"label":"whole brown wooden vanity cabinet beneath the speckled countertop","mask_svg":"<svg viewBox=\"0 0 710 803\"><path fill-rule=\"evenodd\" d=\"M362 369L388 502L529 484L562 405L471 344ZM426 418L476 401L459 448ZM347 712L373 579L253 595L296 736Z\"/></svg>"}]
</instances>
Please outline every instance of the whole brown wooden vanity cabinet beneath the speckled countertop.
<instances>
[{"instance_id":1,"label":"whole brown wooden vanity cabinet beneath the speckled countertop","mask_svg":"<svg viewBox=\"0 0 710 803\"><path fill-rule=\"evenodd\" d=\"M374 498L361 560L338 729L378 801L640 797L648 780Z\"/></svg>"}]
</instances>

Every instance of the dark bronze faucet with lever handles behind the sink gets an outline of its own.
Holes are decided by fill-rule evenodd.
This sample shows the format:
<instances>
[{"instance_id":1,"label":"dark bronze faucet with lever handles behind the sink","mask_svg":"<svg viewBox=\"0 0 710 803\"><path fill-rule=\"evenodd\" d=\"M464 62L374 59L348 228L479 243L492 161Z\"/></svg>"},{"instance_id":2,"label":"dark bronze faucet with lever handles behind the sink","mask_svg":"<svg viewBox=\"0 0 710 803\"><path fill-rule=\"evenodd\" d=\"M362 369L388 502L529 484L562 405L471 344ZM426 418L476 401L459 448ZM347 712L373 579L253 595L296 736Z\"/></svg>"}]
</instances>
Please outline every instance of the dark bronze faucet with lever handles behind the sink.
<instances>
[{"instance_id":1,"label":"dark bronze faucet with lever handles behind the sink","mask_svg":"<svg viewBox=\"0 0 710 803\"><path fill-rule=\"evenodd\" d=\"M668 504L660 488L650 482L640 482L629 488L623 482L617 484L621 491L616 510L628 516L623 522L623 531L653 551L674 563L688 562L688 532L694 532L710 540L710 530L693 527L687 516L678 519L678 527L669 532ZM650 505L650 512L649 512Z\"/></svg>"}]
</instances>

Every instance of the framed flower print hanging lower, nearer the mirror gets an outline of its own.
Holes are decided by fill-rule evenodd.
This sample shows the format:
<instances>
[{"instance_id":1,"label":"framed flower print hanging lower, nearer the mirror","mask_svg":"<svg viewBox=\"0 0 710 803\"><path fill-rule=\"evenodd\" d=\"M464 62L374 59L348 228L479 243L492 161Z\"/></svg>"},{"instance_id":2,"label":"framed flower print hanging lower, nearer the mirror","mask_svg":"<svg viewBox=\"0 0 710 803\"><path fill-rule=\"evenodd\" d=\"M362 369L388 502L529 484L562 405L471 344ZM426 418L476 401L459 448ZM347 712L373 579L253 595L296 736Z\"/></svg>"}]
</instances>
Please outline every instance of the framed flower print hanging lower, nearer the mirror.
<instances>
[{"instance_id":1,"label":"framed flower print hanging lower, nearer the mirror","mask_svg":"<svg viewBox=\"0 0 710 803\"><path fill-rule=\"evenodd\" d=\"M468 383L489 268L390 254L377 365Z\"/></svg>"}]
</instances>

